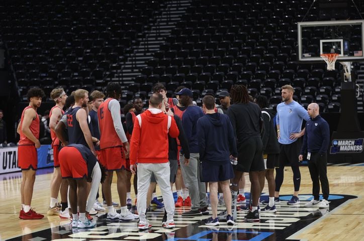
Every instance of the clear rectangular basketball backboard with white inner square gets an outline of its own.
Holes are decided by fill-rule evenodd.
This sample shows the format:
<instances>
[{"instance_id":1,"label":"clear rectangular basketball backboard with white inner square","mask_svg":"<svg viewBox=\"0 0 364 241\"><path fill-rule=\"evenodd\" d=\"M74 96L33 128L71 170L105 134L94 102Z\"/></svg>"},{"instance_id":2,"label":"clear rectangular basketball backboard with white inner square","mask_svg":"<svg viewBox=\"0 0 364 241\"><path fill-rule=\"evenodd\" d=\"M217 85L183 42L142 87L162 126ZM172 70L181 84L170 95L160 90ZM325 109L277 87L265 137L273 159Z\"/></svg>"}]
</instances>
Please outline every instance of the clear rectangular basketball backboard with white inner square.
<instances>
[{"instance_id":1,"label":"clear rectangular basketball backboard with white inner square","mask_svg":"<svg viewBox=\"0 0 364 241\"><path fill-rule=\"evenodd\" d=\"M299 22L299 61L323 61L321 54L337 53L337 61L364 59L364 20Z\"/></svg>"}]
</instances>

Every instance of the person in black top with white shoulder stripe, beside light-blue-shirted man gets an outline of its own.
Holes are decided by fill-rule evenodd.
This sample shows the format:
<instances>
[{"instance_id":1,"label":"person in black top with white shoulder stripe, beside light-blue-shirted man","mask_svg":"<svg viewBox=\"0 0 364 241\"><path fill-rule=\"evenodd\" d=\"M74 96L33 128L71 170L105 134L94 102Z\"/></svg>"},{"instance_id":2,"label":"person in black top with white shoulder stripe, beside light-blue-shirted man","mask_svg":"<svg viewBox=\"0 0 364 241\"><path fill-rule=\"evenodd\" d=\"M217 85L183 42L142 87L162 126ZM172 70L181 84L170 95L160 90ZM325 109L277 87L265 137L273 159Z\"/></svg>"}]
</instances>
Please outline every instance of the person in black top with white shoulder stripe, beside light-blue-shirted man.
<instances>
[{"instance_id":1,"label":"person in black top with white shoulder stripe, beside light-blue-shirted man","mask_svg":"<svg viewBox=\"0 0 364 241\"><path fill-rule=\"evenodd\" d=\"M263 201L262 204L266 207L262 208L261 212L277 212L277 208L274 202L275 199L275 168L279 168L279 153L280 146L277 139L277 132L273 123L275 113L272 113L268 109L268 99L264 95L258 95L254 98L254 102L257 103L261 109L261 113L264 121L264 132L262 136L263 142L263 154L266 155L264 159L265 171L259 173L259 182L261 191L264 188L264 177L268 182L269 200ZM260 192L261 192L260 191Z\"/></svg>"}]
</instances>

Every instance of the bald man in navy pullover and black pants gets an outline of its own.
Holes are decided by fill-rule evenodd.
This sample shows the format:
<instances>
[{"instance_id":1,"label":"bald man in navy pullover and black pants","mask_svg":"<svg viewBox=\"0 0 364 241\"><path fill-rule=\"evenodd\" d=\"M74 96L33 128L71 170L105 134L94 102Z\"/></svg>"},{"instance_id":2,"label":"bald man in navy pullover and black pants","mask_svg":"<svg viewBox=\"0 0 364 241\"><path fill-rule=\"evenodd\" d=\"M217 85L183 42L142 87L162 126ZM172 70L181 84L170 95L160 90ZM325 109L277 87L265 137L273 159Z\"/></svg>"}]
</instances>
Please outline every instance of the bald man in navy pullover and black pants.
<instances>
[{"instance_id":1,"label":"bald man in navy pullover and black pants","mask_svg":"<svg viewBox=\"0 0 364 241\"><path fill-rule=\"evenodd\" d=\"M318 206L319 208L328 208L329 202L329 181L327 180L327 148L330 143L330 130L327 122L320 116L320 107L317 103L311 103L307 107L307 113L310 120L306 123L306 131L303 137L302 149L299 160L307 151L308 169L310 170L312 180L313 199L306 203L305 206ZM320 182L322 197L320 200Z\"/></svg>"}]
</instances>

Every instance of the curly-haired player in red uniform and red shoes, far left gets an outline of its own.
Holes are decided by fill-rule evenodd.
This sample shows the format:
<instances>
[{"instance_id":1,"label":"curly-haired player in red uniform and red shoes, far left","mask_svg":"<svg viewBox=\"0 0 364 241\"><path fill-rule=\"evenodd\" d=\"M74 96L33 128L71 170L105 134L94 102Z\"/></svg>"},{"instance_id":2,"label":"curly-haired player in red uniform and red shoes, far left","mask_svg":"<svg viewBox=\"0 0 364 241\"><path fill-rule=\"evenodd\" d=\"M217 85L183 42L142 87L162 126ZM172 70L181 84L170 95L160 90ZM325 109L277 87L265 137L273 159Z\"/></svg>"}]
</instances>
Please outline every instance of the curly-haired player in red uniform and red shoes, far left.
<instances>
[{"instance_id":1,"label":"curly-haired player in red uniform and red shoes, far left","mask_svg":"<svg viewBox=\"0 0 364 241\"><path fill-rule=\"evenodd\" d=\"M22 209L19 214L21 219L41 219L44 217L44 215L36 213L30 206L38 164L36 148L40 148L38 140L40 120L37 108L41 105L43 96L44 92L42 89L38 87L29 89L27 93L29 105L22 112L17 130L20 135L18 166L22 169L22 184L20 186Z\"/></svg>"}]
</instances>

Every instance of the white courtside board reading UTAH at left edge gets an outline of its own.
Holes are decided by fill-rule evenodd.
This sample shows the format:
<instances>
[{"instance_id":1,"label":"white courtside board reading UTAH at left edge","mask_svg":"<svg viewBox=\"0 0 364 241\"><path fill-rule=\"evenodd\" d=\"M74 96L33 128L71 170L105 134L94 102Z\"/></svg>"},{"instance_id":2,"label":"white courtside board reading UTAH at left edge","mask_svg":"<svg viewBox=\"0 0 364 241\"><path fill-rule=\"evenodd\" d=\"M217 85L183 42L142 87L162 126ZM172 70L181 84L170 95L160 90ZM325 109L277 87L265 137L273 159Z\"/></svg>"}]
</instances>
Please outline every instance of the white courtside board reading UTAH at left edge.
<instances>
[{"instance_id":1,"label":"white courtside board reading UTAH at left edge","mask_svg":"<svg viewBox=\"0 0 364 241\"><path fill-rule=\"evenodd\" d=\"M19 172L18 147L0 148L0 174Z\"/></svg>"}]
</instances>

